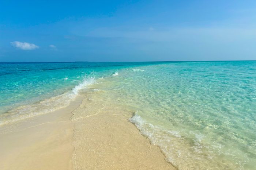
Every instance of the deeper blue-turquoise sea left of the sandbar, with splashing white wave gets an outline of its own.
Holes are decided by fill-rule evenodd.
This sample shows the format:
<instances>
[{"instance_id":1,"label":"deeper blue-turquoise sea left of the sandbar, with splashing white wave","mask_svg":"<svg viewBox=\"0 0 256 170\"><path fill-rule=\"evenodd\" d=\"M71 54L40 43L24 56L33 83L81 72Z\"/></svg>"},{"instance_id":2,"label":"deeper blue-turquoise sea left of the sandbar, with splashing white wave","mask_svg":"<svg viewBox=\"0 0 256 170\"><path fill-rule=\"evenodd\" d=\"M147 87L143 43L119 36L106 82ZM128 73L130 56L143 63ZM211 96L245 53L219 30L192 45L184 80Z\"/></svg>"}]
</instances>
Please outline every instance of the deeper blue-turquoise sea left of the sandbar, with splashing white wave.
<instances>
[{"instance_id":1,"label":"deeper blue-turquoise sea left of the sandbar, with splashing white wave","mask_svg":"<svg viewBox=\"0 0 256 170\"><path fill-rule=\"evenodd\" d=\"M97 78L139 64L0 63L0 125L63 108Z\"/></svg>"}]
</instances>

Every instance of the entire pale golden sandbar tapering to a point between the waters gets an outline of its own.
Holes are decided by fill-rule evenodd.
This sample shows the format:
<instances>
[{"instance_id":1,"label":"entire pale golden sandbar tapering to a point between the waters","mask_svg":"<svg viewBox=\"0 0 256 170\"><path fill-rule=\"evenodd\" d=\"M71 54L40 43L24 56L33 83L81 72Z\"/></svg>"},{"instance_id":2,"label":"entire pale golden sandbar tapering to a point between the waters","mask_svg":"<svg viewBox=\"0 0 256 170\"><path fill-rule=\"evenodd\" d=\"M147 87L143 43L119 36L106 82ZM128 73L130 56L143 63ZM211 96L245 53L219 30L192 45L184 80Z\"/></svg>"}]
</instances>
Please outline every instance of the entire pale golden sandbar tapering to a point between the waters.
<instances>
[{"instance_id":1,"label":"entire pale golden sandbar tapering to a point between the waters","mask_svg":"<svg viewBox=\"0 0 256 170\"><path fill-rule=\"evenodd\" d=\"M175 169L104 92L0 127L0 169Z\"/></svg>"}]
</instances>

